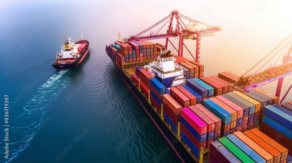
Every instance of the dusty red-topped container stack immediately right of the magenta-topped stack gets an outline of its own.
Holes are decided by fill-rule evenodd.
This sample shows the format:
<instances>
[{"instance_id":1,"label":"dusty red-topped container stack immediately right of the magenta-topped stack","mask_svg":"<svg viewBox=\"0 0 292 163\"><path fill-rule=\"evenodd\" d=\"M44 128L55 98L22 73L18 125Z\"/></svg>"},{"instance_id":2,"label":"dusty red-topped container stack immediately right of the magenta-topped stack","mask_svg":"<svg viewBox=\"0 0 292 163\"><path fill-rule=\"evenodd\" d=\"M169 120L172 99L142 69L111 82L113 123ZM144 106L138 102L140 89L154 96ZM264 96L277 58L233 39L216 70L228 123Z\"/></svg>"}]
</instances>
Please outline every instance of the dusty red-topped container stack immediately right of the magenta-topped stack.
<instances>
[{"instance_id":1,"label":"dusty red-topped container stack immediately right of the magenta-topped stack","mask_svg":"<svg viewBox=\"0 0 292 163\"><path fill-rule=\"evenodd\" d=\"M190 106L189 109L207 124L206 148L210 148L210 144L214 141L215 138L215 122L196 106Z\"/></svg>"}]
</instances>

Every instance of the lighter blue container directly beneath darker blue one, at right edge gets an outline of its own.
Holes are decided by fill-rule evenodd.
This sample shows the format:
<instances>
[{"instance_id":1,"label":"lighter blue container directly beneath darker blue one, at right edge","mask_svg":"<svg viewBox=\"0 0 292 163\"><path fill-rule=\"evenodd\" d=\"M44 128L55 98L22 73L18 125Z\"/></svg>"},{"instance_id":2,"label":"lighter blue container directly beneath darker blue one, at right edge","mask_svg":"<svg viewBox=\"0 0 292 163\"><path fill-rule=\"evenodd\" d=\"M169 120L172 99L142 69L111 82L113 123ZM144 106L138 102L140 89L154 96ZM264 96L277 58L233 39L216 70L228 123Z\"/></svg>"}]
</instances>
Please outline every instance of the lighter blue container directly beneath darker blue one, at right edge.
<instances>
[{"instance_id":1,"label":"lighter blue container directly beneath darker blue one, at right edge","mask_svg":"<svg viewBox=\"0 0 292 163\"><path fill-rule=\"evenodd\" d=\"M280 132L281 134L285 135L286 137L292 139L292 131L287 129L286 127L280 125L279 123L273 121L272 119L266 117L265 115L263 115L262 117L262 121L263 123L269 125L270 127L272 127L273 129L277 130L278 132Z\"/></svg>"}]
</instances>

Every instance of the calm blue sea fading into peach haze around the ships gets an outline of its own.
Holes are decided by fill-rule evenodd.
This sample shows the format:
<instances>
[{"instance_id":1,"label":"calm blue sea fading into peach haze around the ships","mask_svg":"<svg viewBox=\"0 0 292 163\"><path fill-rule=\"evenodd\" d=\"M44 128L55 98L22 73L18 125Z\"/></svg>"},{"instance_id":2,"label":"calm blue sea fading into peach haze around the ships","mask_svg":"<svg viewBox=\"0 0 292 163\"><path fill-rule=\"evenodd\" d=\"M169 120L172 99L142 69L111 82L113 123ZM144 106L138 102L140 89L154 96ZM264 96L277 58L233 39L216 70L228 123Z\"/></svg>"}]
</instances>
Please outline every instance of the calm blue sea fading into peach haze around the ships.
<instances>
[{"instance_id":1,"label":"calm blue sea fading into peach haze around the ships","mask_svg":"<svg viewBox=\"0 0 292 163\"><path fill-rule=\"evenodd\" d=\"M0 95L2 101L5 94L9 96L10 126L8 159L5 128L0 132L0 162L154 162L168 143L126 88L105 54L105 45L118 39L118 31L121 38L138 34L178 9L223 28L201 40L205 76L227 70L241 75L291 33L288 4L284 0L264 5L231 0L2 1ZM60 45L68 37L80 40L81 35L90 42L85 61L70 70L55 70L51 64ZM171 41L177 44L176 39ZM184 43L194 51L194 41ZM284 81L283 91L291 85L291 76ZM275 93L276 85L263 89ZM289 93L285 101L291 100ZM0 117L4 124L4 112ZM180 160L169 150L157 162Z\"/></svg>"}]
</instances>

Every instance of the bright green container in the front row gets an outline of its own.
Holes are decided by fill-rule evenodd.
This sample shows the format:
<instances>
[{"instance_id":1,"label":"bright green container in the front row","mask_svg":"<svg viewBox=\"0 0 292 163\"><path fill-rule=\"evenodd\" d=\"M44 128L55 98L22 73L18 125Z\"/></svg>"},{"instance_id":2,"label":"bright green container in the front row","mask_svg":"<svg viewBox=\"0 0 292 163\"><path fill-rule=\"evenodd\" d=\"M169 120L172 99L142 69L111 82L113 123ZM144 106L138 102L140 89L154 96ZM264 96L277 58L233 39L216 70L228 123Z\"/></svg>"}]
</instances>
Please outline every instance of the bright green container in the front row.
<instances>
[{"instance_id":1,"label":"bright green container in the front row","mask_svg":"<svg viewBox=\"0 0 292 163\"><path fill-rule=\"evenodd\" d=\"M246 155L240 148L233 144L226 137L218 139L232 154L234 154L243 163L256 163L248 155Z\"/></svg>"}]
</instances>

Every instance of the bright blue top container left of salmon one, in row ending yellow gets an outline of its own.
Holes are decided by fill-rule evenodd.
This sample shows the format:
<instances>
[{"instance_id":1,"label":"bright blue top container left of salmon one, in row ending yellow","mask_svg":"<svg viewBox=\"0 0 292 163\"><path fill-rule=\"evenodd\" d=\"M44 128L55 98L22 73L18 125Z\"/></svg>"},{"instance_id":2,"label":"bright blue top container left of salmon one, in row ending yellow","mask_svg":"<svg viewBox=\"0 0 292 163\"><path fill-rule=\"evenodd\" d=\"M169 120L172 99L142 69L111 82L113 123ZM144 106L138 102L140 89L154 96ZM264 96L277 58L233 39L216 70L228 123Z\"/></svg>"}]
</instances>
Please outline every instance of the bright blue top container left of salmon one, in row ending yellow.
<instances>
[{"instance_id":1,"label":"bright blue top container left of salmon one, in row ending yellow","mask_svg":"<svg viewBox=\"0 0 292 163\"><path fill-rule=\"evenodd\" d=\"M222 124L231 123L231 114L210 99L203 100L203 106L222 120Z\"/></svg>"}]
</instances>

